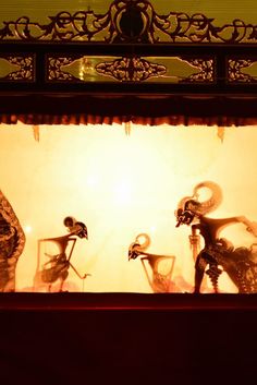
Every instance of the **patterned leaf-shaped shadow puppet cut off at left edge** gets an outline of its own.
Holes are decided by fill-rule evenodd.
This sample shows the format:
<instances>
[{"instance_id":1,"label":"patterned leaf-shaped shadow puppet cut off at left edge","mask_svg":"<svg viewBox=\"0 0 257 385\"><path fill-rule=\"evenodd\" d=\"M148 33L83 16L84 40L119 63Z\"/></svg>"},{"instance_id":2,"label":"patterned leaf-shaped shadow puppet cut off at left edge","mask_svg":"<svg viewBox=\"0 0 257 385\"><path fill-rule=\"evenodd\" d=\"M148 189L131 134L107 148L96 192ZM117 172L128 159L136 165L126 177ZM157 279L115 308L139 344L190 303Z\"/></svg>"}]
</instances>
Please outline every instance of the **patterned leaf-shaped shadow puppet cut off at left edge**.
<instances>
[{"instance_id":1,"label":"patterned leaf-shaped shadow puppet cut off at left edge","mask_svg":"<svg viewBox=\"0 0 257 385\"><path fill-rule=\"evenodd\" d=\"M0 191L0 291L15 291L15 269L25 234L13 208Z\"/></svg>"}]
</instances>

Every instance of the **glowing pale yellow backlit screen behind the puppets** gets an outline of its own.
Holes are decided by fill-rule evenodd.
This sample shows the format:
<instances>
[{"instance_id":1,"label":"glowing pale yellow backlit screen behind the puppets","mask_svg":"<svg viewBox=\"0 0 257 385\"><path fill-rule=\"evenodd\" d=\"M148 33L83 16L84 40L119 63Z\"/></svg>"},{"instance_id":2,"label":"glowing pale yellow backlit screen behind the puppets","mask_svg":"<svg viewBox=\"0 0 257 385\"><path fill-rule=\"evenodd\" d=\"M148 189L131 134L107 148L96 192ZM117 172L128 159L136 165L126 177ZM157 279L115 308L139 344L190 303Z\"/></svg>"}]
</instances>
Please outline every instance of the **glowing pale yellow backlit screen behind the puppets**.
<instances>
[{"instance_id":1,"label":"glowing pale yellow backlit screen behind the puppets","mask_svg":"<svg viewBox=\"0 0 257 385\"><path fill-rule=\"evenodd\" d=\"M189 227L175 228L179 201L200 181L213 180L223 202L212 217L245 215L257 220L257 130L228 128L223 143L217 128L138 127L131 135L121 125L1 125L1 190L26 233L16 269L17 290L32 290L37 240L66 233L65 216L88 228L78 239L72 262L84 285L70 273L73 291L151 292L139 258L127 260L128 245L140 232L151 238L149 251L175 255L173 278L193 286ZM255 239L242 225L224 231L234 245ZM47 251L46 251L47 252ZM223 276L221 288L236 291Z\"/></svg>"}]
</instances>

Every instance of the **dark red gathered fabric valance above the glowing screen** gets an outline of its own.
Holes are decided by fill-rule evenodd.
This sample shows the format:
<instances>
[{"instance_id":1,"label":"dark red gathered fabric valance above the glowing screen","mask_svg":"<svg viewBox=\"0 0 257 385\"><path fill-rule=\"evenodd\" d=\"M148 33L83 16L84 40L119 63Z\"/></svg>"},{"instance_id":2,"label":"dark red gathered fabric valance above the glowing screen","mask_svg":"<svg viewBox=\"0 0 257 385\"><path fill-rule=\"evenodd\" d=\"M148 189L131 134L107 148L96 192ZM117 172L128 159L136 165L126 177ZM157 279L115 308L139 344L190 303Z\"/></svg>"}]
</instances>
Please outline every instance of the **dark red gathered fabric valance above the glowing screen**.
<instances>
[{"instance_id":1,"label":"dark red gathered fabric valance above the glowing screen","mask_svg":"<svg viewBox=\"0 0 257 385\"><path fill-rule=\"evenodd\" d=\"M46 96L0 97L0 122L15 124L253 125L257 97Z\"/></svg>"}]
</instances>

